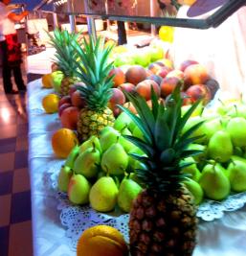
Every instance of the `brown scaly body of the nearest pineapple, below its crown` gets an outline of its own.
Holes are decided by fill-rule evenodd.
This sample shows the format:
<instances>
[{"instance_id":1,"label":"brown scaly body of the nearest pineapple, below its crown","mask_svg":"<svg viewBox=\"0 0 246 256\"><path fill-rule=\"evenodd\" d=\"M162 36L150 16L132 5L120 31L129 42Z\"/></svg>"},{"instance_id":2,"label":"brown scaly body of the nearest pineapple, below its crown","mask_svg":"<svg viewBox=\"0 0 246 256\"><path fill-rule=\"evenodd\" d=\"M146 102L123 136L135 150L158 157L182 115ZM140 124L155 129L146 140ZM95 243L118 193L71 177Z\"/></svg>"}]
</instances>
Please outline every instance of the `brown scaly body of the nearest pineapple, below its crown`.
<instances>
[{"instance_id":1,"label":"brown scaly body of the nearest pineapple, below its crown","mask_svg":"<svg viewBox=\"0 0 246 256\"><path fill-rule=\"evenodd\" d=\"M173 194L145 190L135 199L129 220L132 256L191 256L196 241L196 207L182 187Z\"/></svg>"}]
</instances>

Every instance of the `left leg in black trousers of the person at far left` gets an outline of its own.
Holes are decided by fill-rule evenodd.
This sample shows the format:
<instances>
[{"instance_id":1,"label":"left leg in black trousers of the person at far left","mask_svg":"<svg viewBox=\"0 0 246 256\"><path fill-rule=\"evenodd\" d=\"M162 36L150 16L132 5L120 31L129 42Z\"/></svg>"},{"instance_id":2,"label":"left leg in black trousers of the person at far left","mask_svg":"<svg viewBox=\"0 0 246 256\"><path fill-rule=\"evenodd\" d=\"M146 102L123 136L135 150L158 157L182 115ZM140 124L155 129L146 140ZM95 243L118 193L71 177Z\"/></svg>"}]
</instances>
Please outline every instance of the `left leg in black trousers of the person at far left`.
<instances>
[{"instance_id":1,"label":"left leg in black trousers of the person at far left","mask_svg":"<svg viewBox=\"0 0 246 256\"><path fill-rule=\"evenodd\" d=\"M1 49L1 55L2 55L2 74L3 74L3 82L4 82L4 91L5 93L11 93L12 92L11 67L8 64L6 41L0 42L0 49Z\"/></svg>"}]
</instances>

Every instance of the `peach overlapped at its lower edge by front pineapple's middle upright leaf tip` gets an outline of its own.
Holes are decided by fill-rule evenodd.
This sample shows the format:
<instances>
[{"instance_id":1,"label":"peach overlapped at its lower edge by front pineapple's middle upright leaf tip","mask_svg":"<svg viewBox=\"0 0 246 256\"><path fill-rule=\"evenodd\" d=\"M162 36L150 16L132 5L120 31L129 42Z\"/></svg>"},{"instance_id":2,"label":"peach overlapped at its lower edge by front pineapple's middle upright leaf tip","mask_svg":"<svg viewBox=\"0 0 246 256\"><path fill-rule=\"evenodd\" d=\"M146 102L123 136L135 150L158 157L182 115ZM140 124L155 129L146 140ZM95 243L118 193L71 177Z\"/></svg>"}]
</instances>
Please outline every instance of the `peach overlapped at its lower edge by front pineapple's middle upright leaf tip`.
<instances>
[{"instance_id":1,"label":"peach overlapped at its lower edge by front pineapple's middle upright leaf tip","mask_svg":"<svg viewBox=\"0 0 246 256\"><path fill-rule=\"evenodd\" d=\"M151 99L151 87L153 87L157 96L160 96L160 87L159 85L152 80L141 81L136 86L136 92L145 98L146 101Z\"/></svg>"}]
</instances>

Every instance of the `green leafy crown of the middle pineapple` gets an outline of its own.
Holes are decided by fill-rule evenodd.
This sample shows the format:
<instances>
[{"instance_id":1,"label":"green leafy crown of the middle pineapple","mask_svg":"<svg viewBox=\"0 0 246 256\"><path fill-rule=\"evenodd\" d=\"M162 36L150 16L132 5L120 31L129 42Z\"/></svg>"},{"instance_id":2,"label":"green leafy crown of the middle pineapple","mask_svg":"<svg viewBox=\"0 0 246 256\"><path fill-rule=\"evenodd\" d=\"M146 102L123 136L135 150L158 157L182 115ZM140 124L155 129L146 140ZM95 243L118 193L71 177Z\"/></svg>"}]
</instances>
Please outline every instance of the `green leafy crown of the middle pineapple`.
<instances>
[{"instance_id":1,"label":"green leafy crown of the middle pineapple","mask_svg":"<svg viewBox=\"0 0 246 256\"><path fill-rule=\"evenodd\" d=\"M89 41L83 38L83 47L77 41L73 41L76 51L77 69L76 74L80 81L86 86L79 86L78 90L86 101L88 108L93 110L104 109L112 96L113 76L109 72L113 68L113 62L108 58L113 46L104 47L104 39L98 37L94 39L89 35Z\"/></svg>"}]
</instances>

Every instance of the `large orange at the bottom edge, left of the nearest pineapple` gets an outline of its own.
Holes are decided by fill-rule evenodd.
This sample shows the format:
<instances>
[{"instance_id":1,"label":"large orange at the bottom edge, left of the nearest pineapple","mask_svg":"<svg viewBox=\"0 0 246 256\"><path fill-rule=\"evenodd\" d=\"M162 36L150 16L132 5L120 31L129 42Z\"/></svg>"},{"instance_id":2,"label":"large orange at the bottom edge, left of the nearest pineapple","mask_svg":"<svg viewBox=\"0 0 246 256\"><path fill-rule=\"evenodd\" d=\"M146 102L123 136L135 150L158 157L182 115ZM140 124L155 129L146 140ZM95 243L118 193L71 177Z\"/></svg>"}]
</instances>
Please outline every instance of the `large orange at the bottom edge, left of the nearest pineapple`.
<instances>
[{"instance_id":1,"label":"large orange at the bottom edge, left of the nearest pineapple","mask_svg":"<svg viewBox=\"0 0 246 256\"><path fill-rule=\"evenodd\" d=\"M121 232L108 225L86 229L78 240L77 256L126 256L128 248Z\"/></svg>"}]
</instances>

